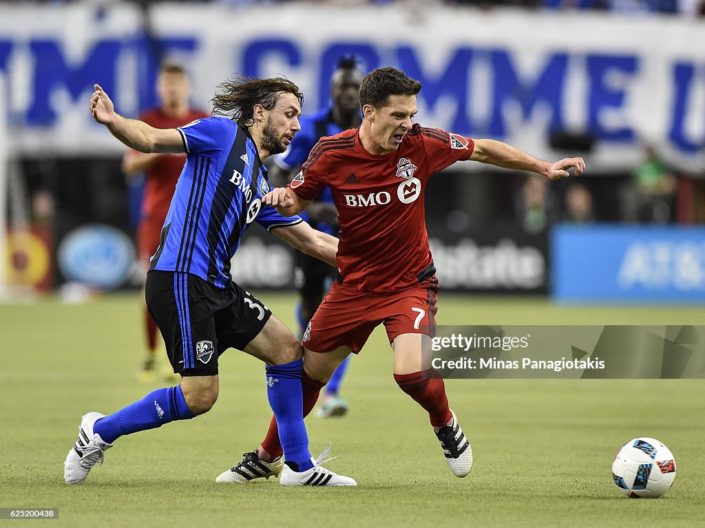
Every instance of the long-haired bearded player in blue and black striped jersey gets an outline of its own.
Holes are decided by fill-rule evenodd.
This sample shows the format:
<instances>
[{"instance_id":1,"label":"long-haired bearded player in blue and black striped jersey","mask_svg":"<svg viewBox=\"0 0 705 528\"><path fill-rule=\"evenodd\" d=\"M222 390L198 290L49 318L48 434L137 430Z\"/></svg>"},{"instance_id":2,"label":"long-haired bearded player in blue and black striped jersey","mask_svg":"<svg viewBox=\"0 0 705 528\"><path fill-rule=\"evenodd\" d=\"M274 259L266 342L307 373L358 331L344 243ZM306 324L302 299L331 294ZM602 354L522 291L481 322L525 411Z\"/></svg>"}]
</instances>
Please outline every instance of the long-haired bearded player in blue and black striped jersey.
<instances>
[{"instance_id":1,"label":"long-haired bearded player in blue and black striped jersey","mask_svg":"<svg viewBox=\"0 0 705 528\"><path fill-rule=\"evenodd\" d=\"M286 463L245 457L221 482L281 473L279 483L286 486L354 486L355 480L321 466L327 448L318 459L309 452L300 342L230 274L230 260L253 221L300 251L335 263L335 237L262 203L270 190L262 160L283 152L300 130L302 95L286 79L241 77L221 83L212 103L214 117L156 129L116 113L109 96L95 85L93 118L123 144L147 153L187 154L145 287L147 308L182 380L109 416L84 415L64 463L64 479L83 482L120 436L210 410L218 397L218 358L227 348L238 348L266 363L267 396Z\"/></svg>"}]
</instances>

